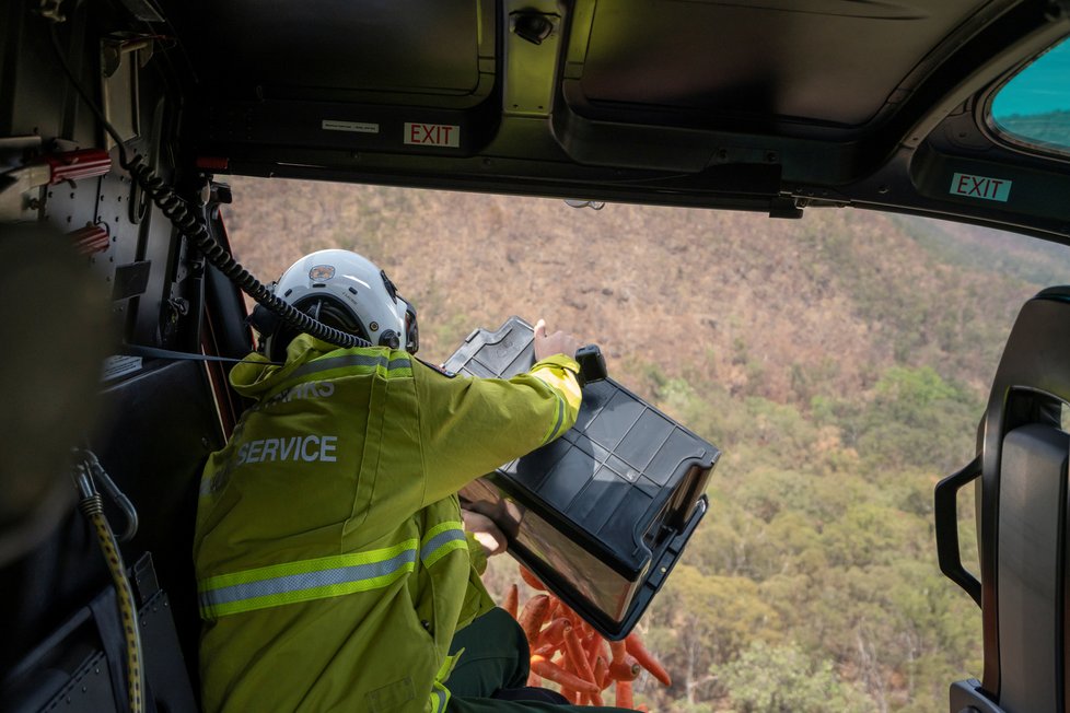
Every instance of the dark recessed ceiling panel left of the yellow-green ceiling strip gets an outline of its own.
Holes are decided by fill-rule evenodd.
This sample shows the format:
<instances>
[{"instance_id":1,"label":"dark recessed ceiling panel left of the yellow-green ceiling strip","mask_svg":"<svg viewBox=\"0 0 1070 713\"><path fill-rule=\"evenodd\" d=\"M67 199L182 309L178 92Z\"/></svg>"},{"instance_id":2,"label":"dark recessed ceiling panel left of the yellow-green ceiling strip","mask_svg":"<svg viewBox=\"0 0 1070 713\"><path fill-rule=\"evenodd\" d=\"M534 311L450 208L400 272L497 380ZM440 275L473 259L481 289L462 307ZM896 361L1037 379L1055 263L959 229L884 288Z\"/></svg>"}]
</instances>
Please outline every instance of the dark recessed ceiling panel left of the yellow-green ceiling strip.
<instances>
[{"instance_id":1,"label":"dark recessed ceiling panel left of the yellow-green ceiling strip","mask_svg":"<svg viewBox=\"0 0 1070 713\"><path fill-rule=\"evenodd\" d=\"M224 95L303 87L321 98L347 91L465 96L480 84L480 55L493 55L487 21L495 3L487 0L182 4L172 14L186 25L209 91Z\"/></svg>"}]
</instances>

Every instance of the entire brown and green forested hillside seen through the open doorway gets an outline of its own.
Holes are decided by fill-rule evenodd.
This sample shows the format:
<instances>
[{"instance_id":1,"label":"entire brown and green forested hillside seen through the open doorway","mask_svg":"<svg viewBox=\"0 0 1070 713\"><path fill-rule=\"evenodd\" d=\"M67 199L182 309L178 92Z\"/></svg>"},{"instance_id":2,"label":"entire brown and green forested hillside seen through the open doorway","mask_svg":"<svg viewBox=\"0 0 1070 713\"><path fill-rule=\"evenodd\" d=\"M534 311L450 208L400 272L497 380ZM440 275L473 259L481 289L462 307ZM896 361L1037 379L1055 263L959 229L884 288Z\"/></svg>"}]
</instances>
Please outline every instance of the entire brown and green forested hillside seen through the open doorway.
<instances>
[{"instance_id":1,"label":"entire brown and green forested hillside seen through the open doorway","mask_svg":"<svg viewBox=\"0 0 1070 713\"><path fill-rule=\"evenodd\" d=\"M232 185L234 250L263 279L313 249L363 253L417 305L434 361L473 328L544 317L723 449L641 623L674 685L643 680L637 702L935 712L980 673L979 612L935 565L932 487L973 456L1013 317L1070 281L1066 248L850 210ZM508 558L488 575L515 578Z\"/></svg>"}]
</instances>

